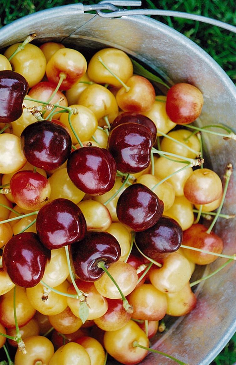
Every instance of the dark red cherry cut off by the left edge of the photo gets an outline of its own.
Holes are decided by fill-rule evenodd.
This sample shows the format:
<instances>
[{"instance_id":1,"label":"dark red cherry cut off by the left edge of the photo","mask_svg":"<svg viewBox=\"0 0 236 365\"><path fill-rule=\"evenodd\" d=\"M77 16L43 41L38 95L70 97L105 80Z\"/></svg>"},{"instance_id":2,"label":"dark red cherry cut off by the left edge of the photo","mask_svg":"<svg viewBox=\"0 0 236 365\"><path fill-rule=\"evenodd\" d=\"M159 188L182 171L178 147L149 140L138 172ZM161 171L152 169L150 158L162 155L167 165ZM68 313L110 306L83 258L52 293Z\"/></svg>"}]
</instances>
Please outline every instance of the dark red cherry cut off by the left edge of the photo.
<instances>
[{"instance_id":1,"label":"dark red cherry cut off by the left edge of the photo","mask_svg":"<svg viewBox=\"0 0 236 365\"><path fill-rule=\"evenodd\" d=\"M0 71L0 122L11 123L20 118L28 82L18 72Z\"/></svg>"}]
</instances>

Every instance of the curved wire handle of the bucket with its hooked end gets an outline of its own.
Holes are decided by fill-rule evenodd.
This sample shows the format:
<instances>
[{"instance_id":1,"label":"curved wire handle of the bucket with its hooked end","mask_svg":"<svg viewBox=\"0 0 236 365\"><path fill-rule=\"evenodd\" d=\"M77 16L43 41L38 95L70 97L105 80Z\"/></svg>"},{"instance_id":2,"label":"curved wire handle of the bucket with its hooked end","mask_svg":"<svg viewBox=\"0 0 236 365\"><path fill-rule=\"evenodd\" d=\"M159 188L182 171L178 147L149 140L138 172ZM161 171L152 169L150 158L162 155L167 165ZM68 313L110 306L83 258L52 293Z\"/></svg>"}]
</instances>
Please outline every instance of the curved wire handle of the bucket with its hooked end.
<instances>
[{"instance_id":1,"label":"curved wire handle of the bucket with its hooked end","mask_svg":"<svg viewBox=\"0 0 236 365\"><path fill-rule=\"evenodd\" d=\"M96 10L97 14L101 18L119 18L121 16L127 15L162 15L162 16L174 16L176 18L190 19L195 20L202 23L207 23L210 25L214 25L226 30L229 30L233 33L236 33L236 27L227 24L225 22L221 22L220 20L208 18L202 15L189 14L181 11L172 11L172 10L162 10L162 9L119 9L117 6L141 6L141 1L136 0L102 0L97 5L85 5L84 10ZM89 8L89 9L87 9ZM110 10L110 12L104 12L104 10Z\"/></svg>"}]
</instances>

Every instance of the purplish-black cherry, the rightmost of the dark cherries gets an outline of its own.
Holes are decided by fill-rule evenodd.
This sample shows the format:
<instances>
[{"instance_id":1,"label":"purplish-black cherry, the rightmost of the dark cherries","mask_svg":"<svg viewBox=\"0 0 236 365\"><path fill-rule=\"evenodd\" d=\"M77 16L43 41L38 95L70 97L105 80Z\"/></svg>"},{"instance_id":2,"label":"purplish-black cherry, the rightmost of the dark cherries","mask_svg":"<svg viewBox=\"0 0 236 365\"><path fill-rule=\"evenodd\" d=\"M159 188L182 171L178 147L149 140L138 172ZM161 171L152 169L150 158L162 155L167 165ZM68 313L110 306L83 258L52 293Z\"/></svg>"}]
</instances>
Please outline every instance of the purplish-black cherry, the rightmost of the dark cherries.
<instances>
[{"instance_id":1,"label":"purplish-black cherry, the rightmost of the dark cherries","mask_svg":"<svg viewBox=\"0 0 236 365\"><path fill-rule=\"evenodd\" d=\"M183 240L183 230L176 220L162 216L146 231L137 232L135 241L138 248L153 260L166 257L179 249Z\"/></svg>"}]
</instances>

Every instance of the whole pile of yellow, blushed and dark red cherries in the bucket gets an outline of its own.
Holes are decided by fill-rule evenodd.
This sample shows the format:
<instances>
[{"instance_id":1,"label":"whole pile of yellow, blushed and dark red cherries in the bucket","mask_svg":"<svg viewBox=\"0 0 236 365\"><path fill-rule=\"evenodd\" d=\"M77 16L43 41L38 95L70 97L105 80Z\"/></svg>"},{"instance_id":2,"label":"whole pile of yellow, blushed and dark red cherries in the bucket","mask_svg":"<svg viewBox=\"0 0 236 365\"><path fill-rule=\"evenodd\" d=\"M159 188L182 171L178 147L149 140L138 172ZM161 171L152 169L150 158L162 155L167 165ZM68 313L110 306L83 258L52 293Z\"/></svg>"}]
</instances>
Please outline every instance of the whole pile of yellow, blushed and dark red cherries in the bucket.
<instances>
[{"instance_id":1,"label":"whole pile of yellow, blushed and dark red cherries in the bucket","mask_svg":"<svg viewBox=\"0 0 236 365\"><path fill-rule=\"evenodd\" d=\"M87 66L60 43L18 46L0 58L0 346L15 365L138 364L223 250L194 222L223 195L183 128L202 93L156 96L121 50Z\"/></svg>"}]
</instances>

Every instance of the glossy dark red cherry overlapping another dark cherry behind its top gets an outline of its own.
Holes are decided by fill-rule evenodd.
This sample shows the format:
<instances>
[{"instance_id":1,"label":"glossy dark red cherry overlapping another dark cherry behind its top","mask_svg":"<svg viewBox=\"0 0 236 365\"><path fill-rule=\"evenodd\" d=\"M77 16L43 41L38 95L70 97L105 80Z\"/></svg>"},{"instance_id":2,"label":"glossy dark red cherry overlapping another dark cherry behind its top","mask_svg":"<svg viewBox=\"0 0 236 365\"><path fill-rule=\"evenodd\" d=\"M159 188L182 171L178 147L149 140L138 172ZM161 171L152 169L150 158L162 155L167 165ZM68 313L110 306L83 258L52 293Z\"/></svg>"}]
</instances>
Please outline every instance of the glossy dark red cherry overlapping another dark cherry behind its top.
<instances>
[{"instance_id":1,"label":"glossy dark red cherry overlapping another dark cherry behind its top","mask_svg":"<svg viewBox=\"0 0 236 365\"><path fill-rule=\"evenodd\" d=\"M137 123L125 123L115 127L107 142L107 149L113 155L117 169L132 174L150 165L152 146L152 132Z\"/></svg>"}]
</instances>

